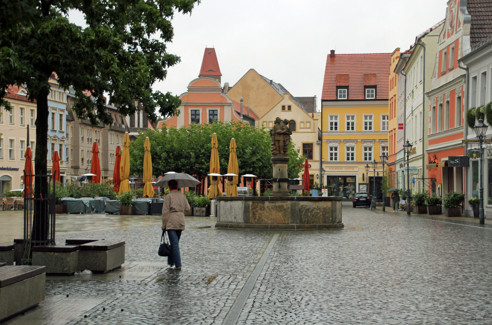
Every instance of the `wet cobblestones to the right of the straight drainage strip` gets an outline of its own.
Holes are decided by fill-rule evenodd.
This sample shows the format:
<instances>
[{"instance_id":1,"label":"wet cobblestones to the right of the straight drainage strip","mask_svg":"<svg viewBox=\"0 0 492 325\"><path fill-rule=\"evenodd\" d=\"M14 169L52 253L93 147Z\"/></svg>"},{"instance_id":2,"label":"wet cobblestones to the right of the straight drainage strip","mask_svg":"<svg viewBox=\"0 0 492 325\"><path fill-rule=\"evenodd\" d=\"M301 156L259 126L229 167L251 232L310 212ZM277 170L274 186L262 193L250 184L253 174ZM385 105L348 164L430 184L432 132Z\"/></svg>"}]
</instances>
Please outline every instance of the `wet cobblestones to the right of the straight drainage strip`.
<instances>
[{"instance_id":1,"label":"wet cobblestones to the right of the straight drainage strip","mask_svg":"<svg viewBox=\"0 0 492 325\"><path fill-rule=\"evenodd\" d=\"M344 207L283 233L238 324L491 324L492 231Z\"/></svg>"}]
</instances>

